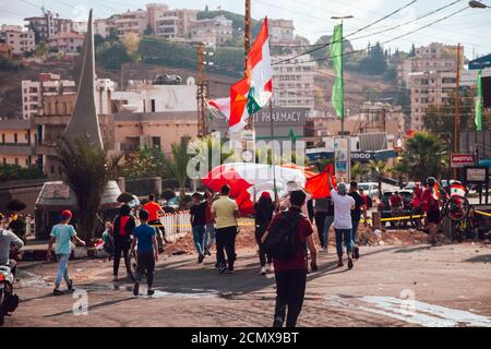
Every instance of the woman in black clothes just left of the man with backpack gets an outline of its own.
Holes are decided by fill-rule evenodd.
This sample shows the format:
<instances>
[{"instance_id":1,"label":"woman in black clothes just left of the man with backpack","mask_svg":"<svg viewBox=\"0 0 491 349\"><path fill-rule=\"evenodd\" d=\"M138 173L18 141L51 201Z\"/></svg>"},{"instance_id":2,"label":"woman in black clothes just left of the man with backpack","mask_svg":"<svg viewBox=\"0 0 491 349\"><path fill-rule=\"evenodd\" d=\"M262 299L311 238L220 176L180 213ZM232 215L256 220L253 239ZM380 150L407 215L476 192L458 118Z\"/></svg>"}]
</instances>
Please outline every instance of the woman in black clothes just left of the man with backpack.
<instances>
[{"instance_id":1,"label":"woman in black clothes just left of the man with backpack","mask_svg":"<svg viewBox=\"0 0 491 349\"><path fill-rule=\"evenodd\" d=\"M263 243L261 239L266 232L267 227L273 218L273 212L275 210L275 205L271 198L268 192L263 192L260 200L254 205L255 209L255 240L258 241L258 246L260 250L260 263L261 263L261 275L266 275L267 273L273 273L273 260L270 255L264 252ZM266 269L267 261L267 269Z\"/></svg>"}]
</instances>

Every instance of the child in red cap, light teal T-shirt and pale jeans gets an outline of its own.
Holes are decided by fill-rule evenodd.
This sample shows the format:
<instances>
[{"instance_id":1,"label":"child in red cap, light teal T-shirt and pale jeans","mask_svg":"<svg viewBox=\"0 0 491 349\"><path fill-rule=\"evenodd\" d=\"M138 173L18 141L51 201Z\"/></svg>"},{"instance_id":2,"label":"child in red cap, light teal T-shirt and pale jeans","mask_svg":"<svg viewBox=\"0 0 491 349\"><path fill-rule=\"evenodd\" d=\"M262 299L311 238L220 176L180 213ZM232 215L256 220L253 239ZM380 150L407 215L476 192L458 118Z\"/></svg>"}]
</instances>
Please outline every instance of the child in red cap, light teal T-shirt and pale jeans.
<instances>
[{"instance_id":1,"label":"child in red cap, light teal T-shirt and pale jeans","mask_svg":"<svg viewBox=\"0 0 491 349\"><path fill-rule=\"evenodd\" d=\"M48 244L48 258L52 255L52 244L56 243L55 254L58 260L58 274L55 280L55 289L52 291L53 296L63 294L60 291L61 279L64 279L67 287L70 292L73 291L73 281L70 279L68 273L68 262L71 254L70 242L79 243L85 246L85 242L79 239L76 231L69 222L72 219L72 213L68 209L63 210L60 215L60 222L52 227L51 234Z\"/></svg>"}]
</instances>

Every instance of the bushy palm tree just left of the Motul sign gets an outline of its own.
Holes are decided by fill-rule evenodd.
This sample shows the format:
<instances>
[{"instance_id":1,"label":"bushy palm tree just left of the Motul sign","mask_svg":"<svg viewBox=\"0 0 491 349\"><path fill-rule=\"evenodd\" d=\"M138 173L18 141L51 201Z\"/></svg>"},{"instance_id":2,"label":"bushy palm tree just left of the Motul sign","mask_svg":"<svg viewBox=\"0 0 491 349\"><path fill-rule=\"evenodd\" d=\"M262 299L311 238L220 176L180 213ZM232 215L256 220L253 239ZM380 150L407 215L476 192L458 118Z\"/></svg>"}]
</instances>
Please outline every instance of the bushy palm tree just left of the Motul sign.
<instances>
[{"instance_id":1,"label":"bushy palm tree just left of the Motul sign","mask_svg":"<svg viewBox=\"0 0 491 349\"><path fill-rule=\"evenodd\" d=\"M409 179L422 181L430 176L440 178L447 169L445 143L427 131L417 132L406 142L402 155Z\"/></svg>"}]
</instances>

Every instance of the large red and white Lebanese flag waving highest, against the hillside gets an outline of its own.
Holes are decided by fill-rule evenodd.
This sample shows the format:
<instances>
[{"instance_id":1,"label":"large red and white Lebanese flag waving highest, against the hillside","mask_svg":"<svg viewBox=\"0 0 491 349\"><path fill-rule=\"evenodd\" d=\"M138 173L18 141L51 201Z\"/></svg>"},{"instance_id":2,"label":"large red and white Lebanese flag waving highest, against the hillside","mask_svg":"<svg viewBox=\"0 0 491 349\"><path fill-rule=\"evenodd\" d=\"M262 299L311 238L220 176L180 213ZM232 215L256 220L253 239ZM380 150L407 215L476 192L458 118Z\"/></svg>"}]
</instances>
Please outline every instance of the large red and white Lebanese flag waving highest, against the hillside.
<instances>
[{"instance_id":1,"label":"large red and white Lebanese flag waving highest, against the hillside","mask_svg":"<svg viewBox=\"0 0 491 349\"><path fill-rule=\"evenodd\" d=\"M261 110L272 95L273 70L267 17L265 17L249 52L246 77L230 87L230 132L241 131L247 125L247 119Z\"/></svg>"}]
</instances>

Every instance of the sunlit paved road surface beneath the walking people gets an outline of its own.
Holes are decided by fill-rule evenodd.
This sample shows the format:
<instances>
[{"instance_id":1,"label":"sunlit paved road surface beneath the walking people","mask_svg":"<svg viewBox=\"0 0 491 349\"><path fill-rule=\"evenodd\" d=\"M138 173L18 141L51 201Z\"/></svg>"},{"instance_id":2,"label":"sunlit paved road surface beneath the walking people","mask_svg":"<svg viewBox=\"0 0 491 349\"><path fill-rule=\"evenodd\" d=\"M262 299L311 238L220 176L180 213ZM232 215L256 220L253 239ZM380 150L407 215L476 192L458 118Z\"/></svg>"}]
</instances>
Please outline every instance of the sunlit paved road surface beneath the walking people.
<instances>
[{"instance_id":1,"label":"sunlit paved road surface beneath the walking people","mask_svg":"<svg viewBox=\"0 0 491 349\"><path fill-rule=\"evenodd\" d=\"M299 326L491 326L489 246L372 246L362 253L352 270L321 255ZM158 263L157 293L148 299L133 297L131 284L112 284L107 262L72 262L72 277L88 296L88 315L75 316L71 294L50 296L56 265L24 263L22 303L7 326L270 326L273 275L258 275L253 251L241 251L237 266L235 275L218 275L212 261L197 266L192 256L169 257Z\"/></svg>"}]
</instances>

